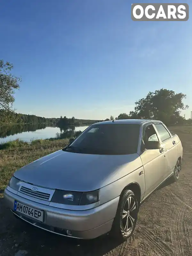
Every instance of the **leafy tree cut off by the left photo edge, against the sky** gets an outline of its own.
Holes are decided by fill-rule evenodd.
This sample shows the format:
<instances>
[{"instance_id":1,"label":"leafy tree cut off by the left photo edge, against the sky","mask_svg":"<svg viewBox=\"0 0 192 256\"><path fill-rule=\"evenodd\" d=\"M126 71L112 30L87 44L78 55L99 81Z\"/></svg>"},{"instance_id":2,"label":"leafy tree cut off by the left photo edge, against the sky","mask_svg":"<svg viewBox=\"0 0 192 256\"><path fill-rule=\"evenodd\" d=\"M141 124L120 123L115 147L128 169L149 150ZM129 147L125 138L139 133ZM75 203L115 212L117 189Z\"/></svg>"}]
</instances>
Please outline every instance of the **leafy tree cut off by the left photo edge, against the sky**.
<instances>
[{"instance_id":1,"label":"leafy tree cut off by the left photo edge, against the sky","mask_svg":"<svg viewBox=\"0 0 192 256\"><path fill-rule=\"evenodd\" d=\"M11 70L13 65L0 60L0 110L4 111L4 122L10 122L15 118L12 104L15 100L14 92L19 89L19 77L13 76Z\"/></svg>"}]
</instances>

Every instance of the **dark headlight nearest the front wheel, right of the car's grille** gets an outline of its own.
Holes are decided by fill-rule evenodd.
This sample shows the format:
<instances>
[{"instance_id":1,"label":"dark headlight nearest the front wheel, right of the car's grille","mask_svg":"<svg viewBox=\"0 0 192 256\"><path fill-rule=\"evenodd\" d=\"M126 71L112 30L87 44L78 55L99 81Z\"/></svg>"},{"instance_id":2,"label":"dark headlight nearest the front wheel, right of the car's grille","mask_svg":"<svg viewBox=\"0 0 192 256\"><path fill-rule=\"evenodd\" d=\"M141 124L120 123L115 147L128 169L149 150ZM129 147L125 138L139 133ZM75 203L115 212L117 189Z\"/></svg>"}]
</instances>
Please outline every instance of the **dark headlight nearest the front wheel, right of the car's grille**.
<instances>
[{"instance_id":1,"label":"dark headlight nearest the front wheel, right of the car's grille","mask_svg":"<svg viewBox=\"0 0 192 256\"><path fill-rule=\"evenodd\" d=\"M51 202L69 205L87 205L99 201L99 190L93 192L72 192L65 190L55 190Z\"/></svg>"}]
</instances>

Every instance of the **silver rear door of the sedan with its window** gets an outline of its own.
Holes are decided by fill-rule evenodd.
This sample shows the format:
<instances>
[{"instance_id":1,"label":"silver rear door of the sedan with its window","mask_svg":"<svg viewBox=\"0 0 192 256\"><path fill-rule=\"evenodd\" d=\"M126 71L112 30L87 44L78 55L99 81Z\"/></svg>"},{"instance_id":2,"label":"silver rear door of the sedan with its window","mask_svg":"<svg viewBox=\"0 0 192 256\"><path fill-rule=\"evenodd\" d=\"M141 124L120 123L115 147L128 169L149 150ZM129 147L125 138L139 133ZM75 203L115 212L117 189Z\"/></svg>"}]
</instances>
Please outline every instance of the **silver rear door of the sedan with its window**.
<instances>
[{"instance_id":1,"label":"silver rear door of the sedan with its window","mask_svg":"<svg viewBox=\"0 0 192 256\"><path fill-rule=\"evenodd\" d=\"M165 173L164 179L166 179L174 171L175 165L177 163L177 143L179 143L179 141L177 141L178 137L173 136L163 123L154 123L154 125L157 132L159 133L165 150L167 160L167 172Z\"/></svg>"}]
</instances>

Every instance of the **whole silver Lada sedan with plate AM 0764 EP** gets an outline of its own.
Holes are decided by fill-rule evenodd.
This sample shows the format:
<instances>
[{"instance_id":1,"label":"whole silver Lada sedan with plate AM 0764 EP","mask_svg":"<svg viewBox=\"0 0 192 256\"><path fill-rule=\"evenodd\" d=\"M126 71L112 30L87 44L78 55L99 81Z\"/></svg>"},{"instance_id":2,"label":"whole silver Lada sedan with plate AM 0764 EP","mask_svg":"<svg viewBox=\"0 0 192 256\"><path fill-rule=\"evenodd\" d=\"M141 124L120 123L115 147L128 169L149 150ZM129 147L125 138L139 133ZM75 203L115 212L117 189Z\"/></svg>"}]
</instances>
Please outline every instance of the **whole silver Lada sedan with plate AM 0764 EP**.
<instances>
[{"instance_id":1,"label":"whole silver Lada sedan with plate AM 0764 EP","mask_svg":"<svg viewBox=\"0 0 192 256\"><path fill-rule=\"evenodd\" d=\"M132 235L140 203L179 180L183 148L161 121L89 126L67 147L17 170L4 199L19 219L63 236Z\"/></svg>"}]
</instances>

